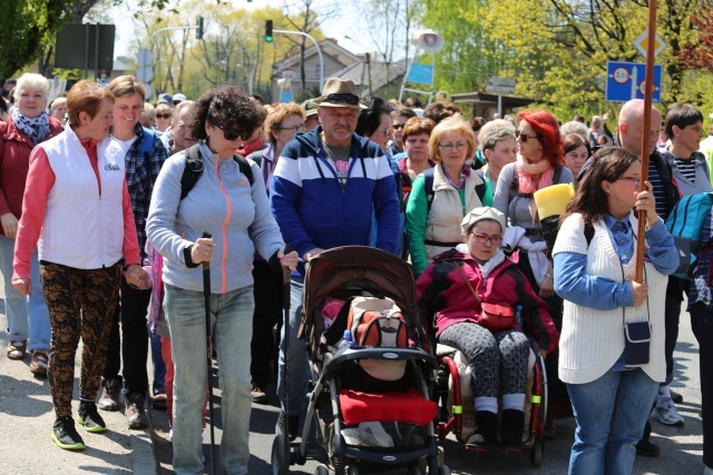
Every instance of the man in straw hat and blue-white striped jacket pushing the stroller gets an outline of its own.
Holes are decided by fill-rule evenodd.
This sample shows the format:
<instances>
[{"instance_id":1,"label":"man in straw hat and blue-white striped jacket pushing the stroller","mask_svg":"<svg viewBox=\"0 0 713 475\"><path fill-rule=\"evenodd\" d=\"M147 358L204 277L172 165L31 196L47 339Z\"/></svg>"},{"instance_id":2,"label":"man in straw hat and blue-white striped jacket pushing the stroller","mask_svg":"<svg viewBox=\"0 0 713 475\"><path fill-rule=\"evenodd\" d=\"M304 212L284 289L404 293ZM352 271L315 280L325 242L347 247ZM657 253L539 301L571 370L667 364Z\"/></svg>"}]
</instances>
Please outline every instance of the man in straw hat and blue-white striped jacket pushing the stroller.
<instances>
[{"instance_id":1,"label":"man in straw hat and blue-white striped jacket pushing the stroller","mask_svg":"<svg viewBox=\"0 0 713 475\"><path fill-rule=\"evenodd\" d=\"M377 218L375 247L394 253L399 236L395 180L383 151L354 133L359 111L356 88L350 80L329 79L318 99L321 126L299 133L277 161L271 184L273 215L285 243L301 257L292 278L290 321L290 436L299 434L305 409L309 367L304 340L296 334L302 313L304 263L324 249L345 245L369 246L372 212ZM284 424L284 333L280 352L277 395Z\"/></svg>"}]
</instances>

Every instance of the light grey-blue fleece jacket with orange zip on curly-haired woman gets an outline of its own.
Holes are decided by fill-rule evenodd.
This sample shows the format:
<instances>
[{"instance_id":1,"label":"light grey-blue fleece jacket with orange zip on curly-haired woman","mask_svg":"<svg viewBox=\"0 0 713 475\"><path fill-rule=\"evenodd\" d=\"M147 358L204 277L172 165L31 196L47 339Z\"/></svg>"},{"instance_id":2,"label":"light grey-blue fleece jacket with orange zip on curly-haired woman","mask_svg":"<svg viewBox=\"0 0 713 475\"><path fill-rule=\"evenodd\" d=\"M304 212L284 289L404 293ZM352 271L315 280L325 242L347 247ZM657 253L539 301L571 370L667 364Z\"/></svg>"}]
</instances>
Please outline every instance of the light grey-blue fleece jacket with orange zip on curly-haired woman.
<instances>
[{"instance_id":1,"label":"light grey-blue fleece jacket with orange zip on curly-haired woman","mask_svg":"<svg viewBox=\"0 0 713 475\"><path fill-rule=\"evenodd\" d=\"M261 171L251 162L253 185L235 160L219 159L201 144L204 170L191 192L180 199L185 152L164 164L152 195L146 234L164 256L164 283L203 290L202 267L188 268L184 249L206 230L213 235L211 291L225 294L253 285L255 250L265 259L284 248L280 228L270 211Z\"/></svg>"}]
</instances>

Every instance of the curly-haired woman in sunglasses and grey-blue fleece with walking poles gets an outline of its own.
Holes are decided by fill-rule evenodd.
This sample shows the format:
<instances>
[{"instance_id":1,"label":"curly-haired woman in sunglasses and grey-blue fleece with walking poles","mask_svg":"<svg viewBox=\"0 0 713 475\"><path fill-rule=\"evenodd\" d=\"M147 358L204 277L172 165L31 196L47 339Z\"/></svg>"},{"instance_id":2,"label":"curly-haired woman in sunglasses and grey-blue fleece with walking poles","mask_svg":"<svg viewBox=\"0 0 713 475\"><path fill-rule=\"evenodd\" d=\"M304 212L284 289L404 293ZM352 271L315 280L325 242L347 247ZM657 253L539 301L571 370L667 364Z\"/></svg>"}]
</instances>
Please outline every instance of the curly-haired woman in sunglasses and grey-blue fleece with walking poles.
<instances>
[{"instance_id":1,"label":"curly-haired woman in sunglasses and grey-blue fleece with walking poles","mask_svg":"<svg viewBox=\"0 0 713 475\"><path fill-rule=\"evenodd\" d=\"M250 348L253 323L255 250L273 268L296 267L297 255L283 255L284 243L270 212L265 184L256 164L250 179L233 158L261 123L251 99L235 86L204 93L195 105L193 148L166 160L152 198L146 231L164 256L164 309L173 344L174 469L203 471L201 420L207 383L203 277L211 266L213 343L221 367L221 456L226 473L246 474L251 414ZM194 187L182 199L186 155L197 151L203 164ZM208 231L213 238L203 238Z\"/></svg>"}]
</instances>

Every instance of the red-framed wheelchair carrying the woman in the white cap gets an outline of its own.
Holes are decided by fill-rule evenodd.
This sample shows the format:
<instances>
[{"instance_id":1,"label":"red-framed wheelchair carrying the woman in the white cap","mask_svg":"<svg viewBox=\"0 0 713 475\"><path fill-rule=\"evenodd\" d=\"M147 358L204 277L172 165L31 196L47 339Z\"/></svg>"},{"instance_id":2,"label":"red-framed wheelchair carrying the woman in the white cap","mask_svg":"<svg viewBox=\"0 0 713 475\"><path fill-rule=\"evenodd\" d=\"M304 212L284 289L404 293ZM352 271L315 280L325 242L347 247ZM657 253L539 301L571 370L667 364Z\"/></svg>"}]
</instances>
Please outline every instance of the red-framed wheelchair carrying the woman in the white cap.
<instances>
[{"instance_id":1,"label":"red-framed wheelchair carrying the woman in the white cap","mask_svg":"<svg viewBox=\"0 0 713 475\"><path fill-rule=\"evenodd\" d=\"M545 359L537 354L537 344L530 338L530 357L528 362L528 394L529 418L526 417L522 445L519 448L507 448L506 452L530 451L530 462L534 467L541 466L545 449L545 419L547 417L547 374ZM470 387L470 369L468 360L456 348L446 345L438 345L437 355L439 358L438 378L436 382L437 399L442 400L441 422L438 424L439 439L446 438L449 433L453 433L459 442L463 443L475 432L475 426L465 428L465 419L475 420L475 414L467 410L472 407L472 399L463 404L463 393ZM531 384L530 384L531 383ZM449 403L450 398L450 404ZM527 415L528 405L525 412ZM495 447L494 447L495 448ZM470 448L476 452L485 452L492 448Z\"/></svg>"}]
</instances>

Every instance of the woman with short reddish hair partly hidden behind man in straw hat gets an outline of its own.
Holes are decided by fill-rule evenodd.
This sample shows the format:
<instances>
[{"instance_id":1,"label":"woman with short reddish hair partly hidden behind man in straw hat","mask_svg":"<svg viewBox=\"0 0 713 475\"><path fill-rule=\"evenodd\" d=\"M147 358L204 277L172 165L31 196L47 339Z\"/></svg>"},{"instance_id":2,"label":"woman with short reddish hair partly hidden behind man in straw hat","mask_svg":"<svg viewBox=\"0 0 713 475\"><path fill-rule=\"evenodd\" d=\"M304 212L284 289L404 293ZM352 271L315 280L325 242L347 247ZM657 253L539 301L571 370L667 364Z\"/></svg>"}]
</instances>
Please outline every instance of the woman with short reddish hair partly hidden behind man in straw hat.
<instances>
[{"instance_id":1,"label":"woman with short reddish hair partly hidden behind man in straw hat","mask_svg":"<svg viewBox=\"0 0 713 475\"><path fill-rule=\"evenodd\" d=\"M304 112L294 102L281 103L265 118L267 146L247 158L260 164L265 188L270 188L272 174L285 145L297 132L304 131ZM274 326L282 316L282 276L274 273L267 263L256 257L253 268L255 280L255 311L253 314L253 340L251 344L251 375L253 378L253 403L267 403L266 388L272 380L272 364L275 359Z\"/></svg>"}]
</instances>

